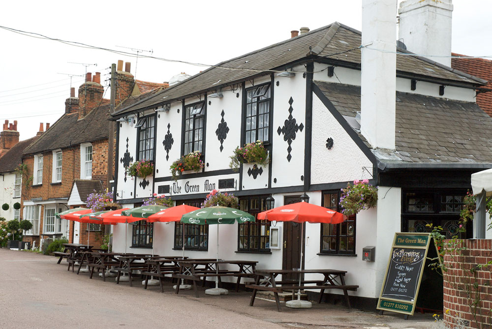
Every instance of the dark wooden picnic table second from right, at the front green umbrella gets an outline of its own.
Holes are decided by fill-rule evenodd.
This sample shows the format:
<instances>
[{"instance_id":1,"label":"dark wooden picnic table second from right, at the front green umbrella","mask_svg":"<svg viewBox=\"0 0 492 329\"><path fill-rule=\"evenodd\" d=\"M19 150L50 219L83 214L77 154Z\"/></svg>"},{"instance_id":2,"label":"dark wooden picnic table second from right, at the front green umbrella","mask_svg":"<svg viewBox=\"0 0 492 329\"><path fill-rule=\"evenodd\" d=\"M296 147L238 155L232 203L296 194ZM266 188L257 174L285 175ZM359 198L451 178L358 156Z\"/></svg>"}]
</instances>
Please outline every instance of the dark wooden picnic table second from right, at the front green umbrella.
<instances>
[{"instance_id":1,"label":"dark wooden picnic table second from right, at the front green umbrella","mask_svg":"<svg viewBox=\"0 0 492 329\"><path fill-rule=\"evenodd\" d=\"M179 262L180 270L178 273L173 274L173 277L193 281L196 297L199 297L196 281L203 280L202 285L205 285L207 277L217 277L221 283L220 278L222 276L236 276L238 278L236 291L238 291L242 277L254 277L253 273L257 263L257 261L184 260ZM225 265L235 265L239 269L220 269L221 266ZM179 292L180 285L177 285L176 294L179 294Z\"/></svg>"}]
</instances>

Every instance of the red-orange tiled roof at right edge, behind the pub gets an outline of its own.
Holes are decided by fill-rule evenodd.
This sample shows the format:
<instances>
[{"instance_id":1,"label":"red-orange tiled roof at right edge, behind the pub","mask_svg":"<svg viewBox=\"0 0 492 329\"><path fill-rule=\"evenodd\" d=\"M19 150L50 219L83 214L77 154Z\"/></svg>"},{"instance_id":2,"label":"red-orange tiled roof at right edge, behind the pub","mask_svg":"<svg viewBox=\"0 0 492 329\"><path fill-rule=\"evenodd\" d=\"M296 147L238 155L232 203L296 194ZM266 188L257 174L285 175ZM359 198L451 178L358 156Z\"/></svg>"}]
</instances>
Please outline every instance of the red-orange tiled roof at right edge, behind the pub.
<instances>
[{"instance_id":1,"label":"red-orange tiled roof at right edge, behind the pub","mask_svg":"<svg viewBox=\"0 0 492 329\"><path fill-rule=\"evenodd\" d=\"M463 56L451 53L453 56ZM482 58L452 58L451 67L462 72L487 80L485 88L492 89L492 60ZM492 91L477 94L477 104L482 110L492 116Z\"/></svg>"}]
</instances>

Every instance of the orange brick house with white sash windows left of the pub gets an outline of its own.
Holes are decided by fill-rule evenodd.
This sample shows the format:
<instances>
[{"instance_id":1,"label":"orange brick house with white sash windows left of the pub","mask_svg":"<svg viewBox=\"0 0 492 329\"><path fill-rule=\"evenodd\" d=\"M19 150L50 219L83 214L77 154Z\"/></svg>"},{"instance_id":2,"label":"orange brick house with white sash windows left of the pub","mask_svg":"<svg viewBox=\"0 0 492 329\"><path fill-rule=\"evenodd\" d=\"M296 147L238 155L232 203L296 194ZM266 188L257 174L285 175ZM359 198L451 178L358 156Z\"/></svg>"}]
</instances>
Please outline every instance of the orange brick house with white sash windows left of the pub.
<instances>
[{"instance_id":1,"label":"orange brick house with white sash windows left of the pub","mask_svg":"<svg viewBox=\"0 0 492 329\"><path fill-rule=\"evenodd\" d=\"M84 190L79 204L70 200L75 181L83 180L98 191L108 186L108 133L110 100L103 98L104 87L100 73L92 77L87 73L86 82L79 87L78 97L74 88L65 101L65 113L46 132L23 152L23 162L32 175L32 184L23 194L21 218L31 220L33 228L27 232L27 241L65 237L70 242L85 241L90 229L91 244L100 245L103 231L98 225L88 225L58 219L57 212L85 206ZM127 106L141 97L166 88L168 85L135 81L130 73L130 63L118 61L116 74L116 108ZM111 141L113 144L115 140ZM114 156L113 156L114 158ZM95 189L95 188L94 188ZM83 232L83 234L81 234ZM86 240L87 241L87 240Z\"/></svg>"}]
</instances>

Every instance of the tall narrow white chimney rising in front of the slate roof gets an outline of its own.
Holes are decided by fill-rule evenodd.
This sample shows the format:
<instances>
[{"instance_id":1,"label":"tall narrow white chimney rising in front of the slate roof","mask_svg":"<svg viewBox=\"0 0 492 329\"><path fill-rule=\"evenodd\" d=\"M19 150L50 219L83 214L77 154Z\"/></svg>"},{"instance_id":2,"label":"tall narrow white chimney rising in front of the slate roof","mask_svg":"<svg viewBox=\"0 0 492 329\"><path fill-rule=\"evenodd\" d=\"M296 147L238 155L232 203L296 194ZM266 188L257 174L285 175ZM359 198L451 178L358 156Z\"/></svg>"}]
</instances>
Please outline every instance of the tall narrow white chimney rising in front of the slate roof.
<instances>
[{"instance_id":1,"label":"tall narrow white chimney rising in front of the slate roof","mask_svg":"<svg viewBox=\"0 0 492 329\"><path fill-rule=\"evenodd\" d=\"M362 1L361 132L373 149L395 149L396 16L395 0Z\"/></svg>"}]
</instances>

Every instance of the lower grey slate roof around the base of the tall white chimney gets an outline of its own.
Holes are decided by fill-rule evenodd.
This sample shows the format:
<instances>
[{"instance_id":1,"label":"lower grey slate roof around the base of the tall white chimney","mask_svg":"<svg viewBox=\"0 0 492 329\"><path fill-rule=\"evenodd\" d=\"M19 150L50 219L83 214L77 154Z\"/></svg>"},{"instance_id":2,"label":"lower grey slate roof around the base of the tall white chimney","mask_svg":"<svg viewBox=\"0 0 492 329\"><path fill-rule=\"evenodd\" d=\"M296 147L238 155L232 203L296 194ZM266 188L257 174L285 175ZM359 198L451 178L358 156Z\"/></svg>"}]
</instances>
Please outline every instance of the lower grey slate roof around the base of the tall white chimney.
<instances>
[{"instance_id":1,"label":"lower grey slate roof around the base of the tall white chimney","mask_svg":"<svg viewBox=\"0 0 492 329\"><path fill-rule=\"evenodd\" d=\"M355 117L361 110L360 87L315 84L341 115ZM492 140L486 135L492 118L476 103L405 92L397 92L396 100L396 162L492 163Z\"/></svg>"}]
</instances>

